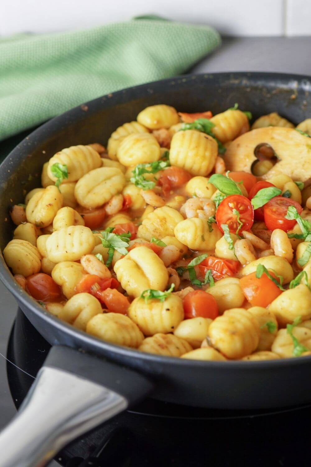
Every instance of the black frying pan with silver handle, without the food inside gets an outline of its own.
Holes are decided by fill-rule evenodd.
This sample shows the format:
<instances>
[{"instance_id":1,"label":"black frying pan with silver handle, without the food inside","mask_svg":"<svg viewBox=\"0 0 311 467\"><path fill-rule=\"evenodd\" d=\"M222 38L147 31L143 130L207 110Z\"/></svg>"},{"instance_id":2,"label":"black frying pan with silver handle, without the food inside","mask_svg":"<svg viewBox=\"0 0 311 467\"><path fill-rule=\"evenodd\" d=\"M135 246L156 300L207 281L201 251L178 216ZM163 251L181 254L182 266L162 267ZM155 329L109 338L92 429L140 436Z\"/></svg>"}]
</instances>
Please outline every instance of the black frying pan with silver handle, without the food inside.
<instances>
[{"instance_id":1,"label":"black frying pan with silver handle, without the food inside","mask_svg":"<svg viewBox=\"0 0 311 467\"><path fill-rule=\"evenodd\" d=\"M311 78L279 73L189 75L95 99L49 121L0 167L0 247L12 239L8 211L40 185L55 152L100 142L152 104L184 112L221 112L235 102L256 118L276 111L298 123L311 116ZM39 466L71 439L148 393L173 403L214 409L263 409L311 402L311 357L275 361L190 361L108 344L42 310L15 283L1 256L0 278L27 318L54 346L30 395L0 437L1 467ZM5 312L5 311L3 311ZM104 358L103 358L104 357ZM113 363L112 363L113 362ZM42 432L42 427L44 430ZM14 440L14 449L8 448Z\"/></svg>"}]
</instances>

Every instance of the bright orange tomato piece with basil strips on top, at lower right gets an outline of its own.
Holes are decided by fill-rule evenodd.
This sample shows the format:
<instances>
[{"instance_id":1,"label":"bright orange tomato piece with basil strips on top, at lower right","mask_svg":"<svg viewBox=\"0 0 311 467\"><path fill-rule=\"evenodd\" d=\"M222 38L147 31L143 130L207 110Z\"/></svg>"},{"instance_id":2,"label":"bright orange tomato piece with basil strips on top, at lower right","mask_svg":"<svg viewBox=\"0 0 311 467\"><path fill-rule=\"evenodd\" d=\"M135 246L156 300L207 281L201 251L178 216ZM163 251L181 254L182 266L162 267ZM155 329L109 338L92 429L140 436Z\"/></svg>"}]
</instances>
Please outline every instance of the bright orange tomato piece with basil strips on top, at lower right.
<instances>
[{"instance_id":1,"label":"bright orange tomato piece with basil strips on top, at lower right","mask_svg":"<svg viewBox=\"0 0 311 467\"><path fill-rule=\"evenodd\" d=\"M270 274L273 276L271 272ZM240 285L244 296L252 306L266 308L282 293L282 290L264 273L260 279L257 279L256 272L252 272L240 279Z\"/></svg>"}]
</instances>

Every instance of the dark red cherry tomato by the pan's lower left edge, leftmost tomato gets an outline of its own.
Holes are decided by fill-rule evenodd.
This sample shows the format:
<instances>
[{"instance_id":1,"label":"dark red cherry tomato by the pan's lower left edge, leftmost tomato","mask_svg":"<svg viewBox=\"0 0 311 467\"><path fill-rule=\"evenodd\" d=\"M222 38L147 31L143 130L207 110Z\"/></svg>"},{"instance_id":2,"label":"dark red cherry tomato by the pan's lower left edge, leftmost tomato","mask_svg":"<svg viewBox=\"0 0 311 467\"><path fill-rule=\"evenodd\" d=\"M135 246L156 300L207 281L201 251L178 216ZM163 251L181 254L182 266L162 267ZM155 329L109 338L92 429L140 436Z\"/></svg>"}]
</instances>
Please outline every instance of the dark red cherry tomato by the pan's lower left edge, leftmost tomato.
<instances>
[{"instance_id":1,"label":"dark red cherry tomato by the pan's lower left edge, leftmost tomato","mask_svg":"<svg viewBox=\"0 0 311 467\"><path fill-rule=\"evenodd\" d=\"M57 300L61 296L60 286L53 281L51 276L43 272L28 276L26 287L32 297L42 302Z\"/></svg>"}]
</instances>

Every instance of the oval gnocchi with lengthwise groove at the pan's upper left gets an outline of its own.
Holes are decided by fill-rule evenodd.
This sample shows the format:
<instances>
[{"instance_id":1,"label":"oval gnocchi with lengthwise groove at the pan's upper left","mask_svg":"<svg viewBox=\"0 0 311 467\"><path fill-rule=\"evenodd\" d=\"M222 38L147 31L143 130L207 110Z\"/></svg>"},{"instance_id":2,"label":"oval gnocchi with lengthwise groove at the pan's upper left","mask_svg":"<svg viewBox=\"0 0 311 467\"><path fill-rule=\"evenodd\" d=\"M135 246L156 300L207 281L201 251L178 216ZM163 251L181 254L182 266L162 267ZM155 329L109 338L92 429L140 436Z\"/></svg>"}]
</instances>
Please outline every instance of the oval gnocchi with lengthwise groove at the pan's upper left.
<instances>
[{"instance_id":1,"label":"oval gnocchi with lengthwise groove at the pan's upper left","mask_svg":"<svg viewBox=\"0 0 311 467\"><path fill-rule=\"evenodd\" d=\"M121 170L101 167L91 170L77 181L75 197L81 206L94 209L120 193L125 183L126 180Z\"/></svg>"}]
</instances>

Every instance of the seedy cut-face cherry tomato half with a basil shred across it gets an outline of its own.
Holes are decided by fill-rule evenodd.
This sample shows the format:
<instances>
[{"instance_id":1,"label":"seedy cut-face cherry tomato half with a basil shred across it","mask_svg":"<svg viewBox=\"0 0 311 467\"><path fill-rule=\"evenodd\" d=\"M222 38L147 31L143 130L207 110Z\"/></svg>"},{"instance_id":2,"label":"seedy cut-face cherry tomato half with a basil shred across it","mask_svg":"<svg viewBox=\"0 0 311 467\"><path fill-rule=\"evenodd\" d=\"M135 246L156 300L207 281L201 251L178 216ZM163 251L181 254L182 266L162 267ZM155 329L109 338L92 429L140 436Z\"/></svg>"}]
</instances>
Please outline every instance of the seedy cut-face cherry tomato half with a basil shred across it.
<instances>
[{"instance_id":1,"label":"seedy cut-face cherry tomato half with a basil shred across it","mask_svg":"<svg viewBox=\"0 0 311 467\"><path fill-rule=\"evenodd\" d=\"M233 213L236 209L240 213L240 222L238 216ZM242 195L231 195L221 201L216 211L216 222L221 229L221 224L227 224L231 233L239 235L242 230L250 230L254 223L254 209L248 198Z\"/></svg>"}]
</instances>

